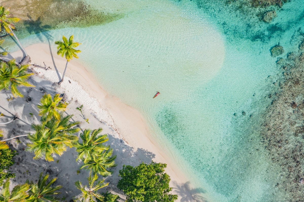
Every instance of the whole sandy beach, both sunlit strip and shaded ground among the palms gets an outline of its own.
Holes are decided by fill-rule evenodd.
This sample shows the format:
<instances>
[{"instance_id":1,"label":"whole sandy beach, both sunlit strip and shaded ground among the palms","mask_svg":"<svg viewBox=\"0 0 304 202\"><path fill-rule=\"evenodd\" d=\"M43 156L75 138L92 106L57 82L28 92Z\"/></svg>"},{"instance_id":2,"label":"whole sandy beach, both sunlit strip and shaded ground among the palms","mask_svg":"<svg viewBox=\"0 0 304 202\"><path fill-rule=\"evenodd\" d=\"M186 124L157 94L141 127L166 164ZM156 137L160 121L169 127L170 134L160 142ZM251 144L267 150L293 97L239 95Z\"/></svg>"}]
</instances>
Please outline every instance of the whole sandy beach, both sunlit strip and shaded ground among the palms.
<instances>
[{"instance_id":1,"label":"whole sandy beach, both sunlit strip and shaded ground among the palms","mask_svg":"<svg viewBox=\"0 0 304 202\"><path fill-rule=\"evenodd\" d=\"M142 115L123 104L118 98L105 92L95 80L95 78L78 63L77 59L69 62L64 82L61 86L57 82L61 78L66 60L56 54L54 48L50 48L46 44L36 44L26 47L28 55L31 57L31 64L44 67L43 62L48 70L33 67L35 73L29 82L36 85L35 88L20 88L25 95L24 98L16 98L7 101L10 97L8 92L2 91L0 94L0 111L5 117L0 118L0 122L6 122L10 116L17 115L19 118L7 125L1 125L5 138L15 135L26 134L31 132L30 125L38 123L40 117L36 105L39 104L44 92L52 95L56 93L64 93L64 99L70 103L68 105L67 114L74 114L75 121L81 121L81 130L86 128L96 129L103 128L103 132L109 135L108 144L114 148L114 154L117 155L117 166L112 169L112 176L107 178L110 182L106 190L119 194L124 201L125 196L122 191L116 188L119 180L118 171L123 164L137 166L142 161L150 163L162 162L167 164L166 172L171 177L170 186L173 187L173 193L178 194L177 201L203 201L204 198L199 196L195 189L192 189L189 182L182 171L176 164L166 155L164 148L159 148L150 135ZM21 51L17 51L9 55L20 60ZM70 83L70 82L71 83ZM83 104L83 115L76 110ZM29 113L33 113L31 116ZM85 119L89 119L89 124ZM40 172L50 173L50 177L58 177L56 184L63 185L60 198L63 201L70 201L71 198L80 193L74 187L74 182L81 180L83 184L87 184L88 171L77 171L81 163L75 161L76 152L74 148L68 149L61 157L56 156L54 162L47 162L43 159L33 160L33 154L24 151L26 148L27 138L19 138L21 143L16 140L10 140L11 144L18 151L16 156L16 164L12 166L12 172L16 173L16 178L12 179L13 184L24 183L26 179L35 181ZM59 161L57 161L59 160ZM102 190L105 191L105 190Z\"/></svg>"}]
</instances>

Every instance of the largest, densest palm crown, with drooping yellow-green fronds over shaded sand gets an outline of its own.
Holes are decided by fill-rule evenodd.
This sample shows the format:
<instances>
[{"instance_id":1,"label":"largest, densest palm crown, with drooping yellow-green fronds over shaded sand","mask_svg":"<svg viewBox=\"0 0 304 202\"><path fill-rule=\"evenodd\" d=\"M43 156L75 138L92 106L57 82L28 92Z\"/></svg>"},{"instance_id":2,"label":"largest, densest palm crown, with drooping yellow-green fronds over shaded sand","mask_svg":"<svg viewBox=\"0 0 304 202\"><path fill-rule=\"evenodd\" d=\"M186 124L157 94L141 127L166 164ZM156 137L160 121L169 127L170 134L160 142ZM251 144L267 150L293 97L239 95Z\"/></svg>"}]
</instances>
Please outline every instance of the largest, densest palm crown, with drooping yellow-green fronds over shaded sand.
<instances>
[{"instance_id":1,"label":"largest, densest palm crown, with drooping yellow-green fronds over shaded sand","mask_svg":"<svg viewBox=\"0 0 304 202\"><path fill-rule=\"evenodd\" d=\"M45 156L46 161L54 161L52 154L61 156L67 150L67 146L73 146L73 142L78 140L78 137L73 134L79 131L79 128L73 127L80 122L70 122L72 116L63 116L61 112L59 120L54 116L47 120L43 116L41 124L32 124L35 133L28 135L32 143L27 144L26 151L34 152L33 159Z\"/></svg>"}]
</instances>

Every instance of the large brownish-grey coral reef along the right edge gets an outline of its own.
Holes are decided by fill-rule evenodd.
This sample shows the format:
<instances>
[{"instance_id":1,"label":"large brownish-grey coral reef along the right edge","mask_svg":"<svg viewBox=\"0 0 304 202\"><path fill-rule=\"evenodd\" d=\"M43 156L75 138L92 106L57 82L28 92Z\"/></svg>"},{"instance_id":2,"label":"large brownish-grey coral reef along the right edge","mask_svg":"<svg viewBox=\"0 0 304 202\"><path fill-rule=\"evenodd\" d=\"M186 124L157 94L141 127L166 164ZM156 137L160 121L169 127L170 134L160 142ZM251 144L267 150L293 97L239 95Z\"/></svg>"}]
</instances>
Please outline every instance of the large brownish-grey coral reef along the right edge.
<instances>
[{"instance_id":1,"label":"large brownish-grey coral reef along the right edge","mask_svg":"<svg viewBox=\"0 0 304 202\"><path fill-rule=\"evenodd\" d=\"M304 41L304 40L303 40ZM302 42L303 44L303 42ZM280 201L304 201L304 53L303 49L278 58L283 80L264 114L262 143L273 164L280 167L276 187Z\"/></svg>"}]
</instances>

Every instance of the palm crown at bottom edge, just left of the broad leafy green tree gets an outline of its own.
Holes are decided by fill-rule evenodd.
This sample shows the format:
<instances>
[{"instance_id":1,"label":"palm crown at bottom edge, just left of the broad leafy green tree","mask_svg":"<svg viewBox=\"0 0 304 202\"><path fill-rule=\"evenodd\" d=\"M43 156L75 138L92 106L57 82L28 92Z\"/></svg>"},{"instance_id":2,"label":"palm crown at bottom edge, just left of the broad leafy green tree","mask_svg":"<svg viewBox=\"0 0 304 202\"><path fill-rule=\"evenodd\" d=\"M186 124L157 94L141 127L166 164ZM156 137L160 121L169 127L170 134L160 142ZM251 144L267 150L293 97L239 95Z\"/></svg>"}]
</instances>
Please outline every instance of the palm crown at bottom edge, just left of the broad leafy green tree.
<instances>
[{"instance_id":1,"label":"palm crown at bottom edge, just left of the broad leafy green tree","mask_svg":"<svg viewBox=\"0 0 304 202\"><path fill-rule=\"evenodd\" d=\"M104 197L102 194L97 193L98 189L108 186L109 183L104 183L105 179L98 180L95 184L95 181L98 180L97 174L91 175L88 177L89 186L83 186L81 181L75 182L77 189L81 190L81 194L74 197L75 202L98 202L103 201Z\"/></svg>"}]
</instances>

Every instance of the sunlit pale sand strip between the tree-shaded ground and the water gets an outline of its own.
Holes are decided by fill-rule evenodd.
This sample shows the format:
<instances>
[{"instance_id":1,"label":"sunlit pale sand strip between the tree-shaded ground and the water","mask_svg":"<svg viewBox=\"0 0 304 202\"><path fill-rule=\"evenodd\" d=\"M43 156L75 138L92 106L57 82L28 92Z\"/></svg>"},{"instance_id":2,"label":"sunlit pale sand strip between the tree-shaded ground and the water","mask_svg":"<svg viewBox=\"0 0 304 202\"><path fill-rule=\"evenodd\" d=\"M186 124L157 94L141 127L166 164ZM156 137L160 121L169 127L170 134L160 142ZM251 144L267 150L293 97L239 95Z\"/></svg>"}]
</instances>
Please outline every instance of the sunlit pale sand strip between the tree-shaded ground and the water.
<instances>
[{"instance_id":1,"label":"sunlit pale sand strip between the tree-shaded ground and the water","mask_svg":"<svg viewBox=\"0 0 304 202\"><path fill-rule=\"evenodd\" d=\"M58 72L56 71L59 71L61 77L61 72L64 70L66 60L56 54L56 49L52 49L52 52L50 52L49 45L34 44L26 47L26 51L31 57L30 64L44 66L44 62L47 67L51 68L51 70L48 69L47 71L36 67L33 68L39 72L40 78L45 78L54 83L59 81ZM21 51L16 51L10 55L18 61L18 59L21 58L21 54ZM69 80L71 80L71 83L69 83ZM56 88L57 87L55 87L55 89ZM76 98L79 103L83 102L84 107L90 111L91 115L99 122L104 122L112 128L113 132L115 131L119 138L122 138L129 147L133 147L134 151L136 148L143 148L155 155L153 159L155 162L166 163L167 168L165 170L171 177L170 186L173 187L172 192L178 194L178 200L176 201L181 201L183 197L187 197L187 199L191 201L197 201L197 199L193 198L191 191L188 190L189 181L183 172L163 151L165 148L161 149L153 140L150 134L151 131L144 121L143 116L134 108L122 103L119 98L104 91L94 76L91 75L77 59L69 62L65 79L60 88L63 88L65 90L64 93L68 96L72 95L72 99ZM81 91L79 88L84 92L79 93ZM97 103L98 107L96 107ZM94 129L91 126L90 128ZM111 180L112 177L109 177L109 180ZM183 193L181 193L181 188L184 191Z\"/></svg>"}]
</instances>

